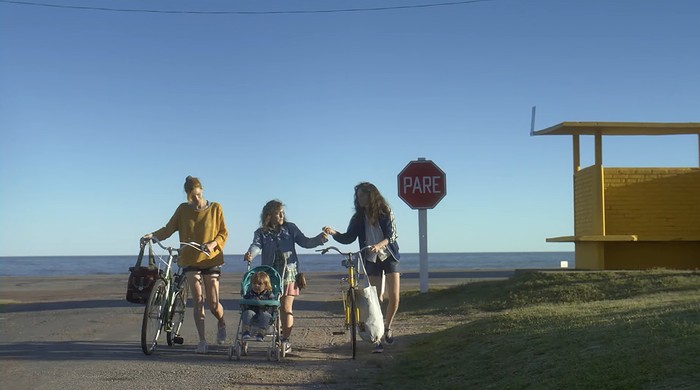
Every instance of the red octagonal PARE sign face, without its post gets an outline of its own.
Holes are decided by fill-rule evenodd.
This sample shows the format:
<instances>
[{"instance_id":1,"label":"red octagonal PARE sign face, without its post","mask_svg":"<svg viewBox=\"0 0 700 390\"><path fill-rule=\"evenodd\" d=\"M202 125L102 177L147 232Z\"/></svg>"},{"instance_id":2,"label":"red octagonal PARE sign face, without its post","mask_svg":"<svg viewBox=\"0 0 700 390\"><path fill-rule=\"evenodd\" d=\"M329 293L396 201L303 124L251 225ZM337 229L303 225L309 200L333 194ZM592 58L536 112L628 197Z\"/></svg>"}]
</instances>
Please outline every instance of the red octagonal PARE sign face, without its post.
<instances>
[{"instance_id":1,"label":"red octagonal PARE sign face, without its post","mask_svg":"<svg viewBox=\"0 0 700 390\"><path fill-rule=\"evenodd\" d=\"M411 161L398 176L399 198L412 209L432 209L447 194L447 177L430 160Z\"/></svg>"}]
</instances>

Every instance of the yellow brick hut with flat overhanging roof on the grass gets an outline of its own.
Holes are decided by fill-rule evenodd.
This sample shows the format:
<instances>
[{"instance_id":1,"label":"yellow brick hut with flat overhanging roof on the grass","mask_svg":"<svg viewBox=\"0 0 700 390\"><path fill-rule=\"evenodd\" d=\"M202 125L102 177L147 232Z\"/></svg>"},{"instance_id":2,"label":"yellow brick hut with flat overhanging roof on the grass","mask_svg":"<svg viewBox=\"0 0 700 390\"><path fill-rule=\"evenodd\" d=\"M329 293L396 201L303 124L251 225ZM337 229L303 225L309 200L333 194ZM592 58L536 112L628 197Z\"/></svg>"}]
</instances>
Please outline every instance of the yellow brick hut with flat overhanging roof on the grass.
<instances>
[{"instance_id":1,"label":"yellow brick hut with flat overhanging roof on the grass","mask_svg":"<svg viewBox=\"0 0 700 390\"><path fill-rule=\"evenodd\" d=\"M603 136L697 134L698 167L603 167ZM700 268L700 123L562 122L532 135L573 138L577 269ZM595 163L581 168L580 137Z\"/></svg>"}]
</instances>

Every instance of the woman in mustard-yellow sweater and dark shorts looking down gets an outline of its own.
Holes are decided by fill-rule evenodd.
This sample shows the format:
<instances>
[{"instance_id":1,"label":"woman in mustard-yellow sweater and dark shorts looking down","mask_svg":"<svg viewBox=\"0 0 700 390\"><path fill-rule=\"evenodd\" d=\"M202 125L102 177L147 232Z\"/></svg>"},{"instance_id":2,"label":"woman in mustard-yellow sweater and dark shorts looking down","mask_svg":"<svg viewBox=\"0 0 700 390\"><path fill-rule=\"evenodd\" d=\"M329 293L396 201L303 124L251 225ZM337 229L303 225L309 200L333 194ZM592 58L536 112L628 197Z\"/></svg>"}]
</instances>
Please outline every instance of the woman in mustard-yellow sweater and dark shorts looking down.
<instances>
[{"instance_id":1,"label":"woman in mustard-yellow sweater and dark shorts looking down","mask_svg":"<svg viewBox=\"0 0 700 390\"><path fill-rule=\"evenodd\" d=\"M184 268L192 291L194 322L199 333L199 345L196 353L207 353L207 341L204 332L204 294L206 290L209 310L219 321L216 341L226 342L226 322L224 307L219 302L219 276L221 265L224 264L224 245L228 231L224 223L224 213L221 205L209 202L202 195L202 183L198 178L187 176L185 179L187 202L180 204L170 221L153 233L144 235L145 239L155 237L165 240L176 231L179 232L180 242L197 242L206 245L210 255L199 252L194 248L184 246L180 249L178 265Z\"/></svg>"}]
</instances>

